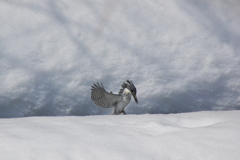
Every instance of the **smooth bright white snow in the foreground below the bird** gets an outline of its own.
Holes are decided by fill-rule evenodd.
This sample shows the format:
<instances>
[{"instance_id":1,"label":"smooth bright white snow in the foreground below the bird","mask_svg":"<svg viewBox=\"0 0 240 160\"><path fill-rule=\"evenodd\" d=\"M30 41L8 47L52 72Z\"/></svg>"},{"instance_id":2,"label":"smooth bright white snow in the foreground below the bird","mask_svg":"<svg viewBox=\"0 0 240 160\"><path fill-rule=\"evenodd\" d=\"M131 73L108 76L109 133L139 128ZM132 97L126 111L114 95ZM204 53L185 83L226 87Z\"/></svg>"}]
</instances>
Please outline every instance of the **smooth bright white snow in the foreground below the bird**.
<instances>
[{"instance_id":1,"label":"smooth bright white snow in the foreground below the bird","mask_svg":"<svg viewBox=\"0 0 240 160\"><path fill-rule=\"evenodd\" d=\"M240 111L0 120L4 160L239 160Z\"/></svg>"}]
</instances>

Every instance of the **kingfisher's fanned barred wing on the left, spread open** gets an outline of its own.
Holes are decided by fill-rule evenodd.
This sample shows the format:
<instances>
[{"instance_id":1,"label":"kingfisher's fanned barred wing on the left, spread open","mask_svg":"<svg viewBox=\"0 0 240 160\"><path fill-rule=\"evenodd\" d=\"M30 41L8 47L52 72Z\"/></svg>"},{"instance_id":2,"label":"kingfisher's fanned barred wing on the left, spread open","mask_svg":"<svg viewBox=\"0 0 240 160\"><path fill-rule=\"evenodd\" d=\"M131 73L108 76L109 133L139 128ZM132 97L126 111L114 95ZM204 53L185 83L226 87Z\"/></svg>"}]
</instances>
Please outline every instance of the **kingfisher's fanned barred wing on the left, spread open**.
<instances>
[{"instance_id":1,"label":"kingfisher's fanned barred wing on the left, spread open","mask_svg":"<svg viewBox=\"0 0 240 160\"><path fill-rule=\"evenodd\" d=\"M116 106L121 100L122 96L113 93L108 93L103 85L97 83L92 86L91 99L93 102L103 108L110 108Z\"/></svg>"}]
</instances>

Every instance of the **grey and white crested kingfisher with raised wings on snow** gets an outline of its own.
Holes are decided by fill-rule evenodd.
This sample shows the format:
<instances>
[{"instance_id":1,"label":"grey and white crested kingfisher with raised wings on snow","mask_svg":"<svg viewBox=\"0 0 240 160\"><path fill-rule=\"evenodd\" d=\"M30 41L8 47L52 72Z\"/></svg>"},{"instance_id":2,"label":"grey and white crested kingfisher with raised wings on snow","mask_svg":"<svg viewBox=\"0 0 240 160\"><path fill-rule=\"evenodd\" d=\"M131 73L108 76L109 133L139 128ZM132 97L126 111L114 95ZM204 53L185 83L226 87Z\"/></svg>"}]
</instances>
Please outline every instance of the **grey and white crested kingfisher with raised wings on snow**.
<instances>
[{"instance_id":1,"label":"grey and white crested kingfisher with raised wings on snow","mask_svg":"<svg viewBox=\"0 0 240 160\"><path fill-rule=\"evenodd\" d=\"M126 80L122 84L122 88L120 89L118 94L113 94L112 92L107 92L103 86L103 84L93 83L91 88L91 99L92 101L102 108L111 108L114 107L112 114L126 114L124 111L125 107L131 101L131 96L133 96L136 103L138 103L137 99L137 89L134 86L131 80Z\"/></svg>"}]
</instances>

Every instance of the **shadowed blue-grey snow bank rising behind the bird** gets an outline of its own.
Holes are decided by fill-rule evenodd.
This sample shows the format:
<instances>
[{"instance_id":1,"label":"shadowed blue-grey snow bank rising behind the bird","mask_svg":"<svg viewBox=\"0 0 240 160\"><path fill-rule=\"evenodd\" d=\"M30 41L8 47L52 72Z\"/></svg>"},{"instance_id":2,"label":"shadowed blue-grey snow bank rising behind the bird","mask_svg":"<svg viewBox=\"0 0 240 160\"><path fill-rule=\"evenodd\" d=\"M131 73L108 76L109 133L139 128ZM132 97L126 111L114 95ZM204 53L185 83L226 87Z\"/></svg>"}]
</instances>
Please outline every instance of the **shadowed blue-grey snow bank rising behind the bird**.
<instances>
[{"instance_id":1,"label":"shadowed blue-grey snow bank rising behind the bird","mask_svg":"<svg viewBox=\"0 0 240 160\"><path fill-rule=\"evenodd\" d=\"M109 114L90 86L127 79L129 114L240 109L239 0L0 0L0 22L1 118Z\"/></svg>"}]
</instances>

